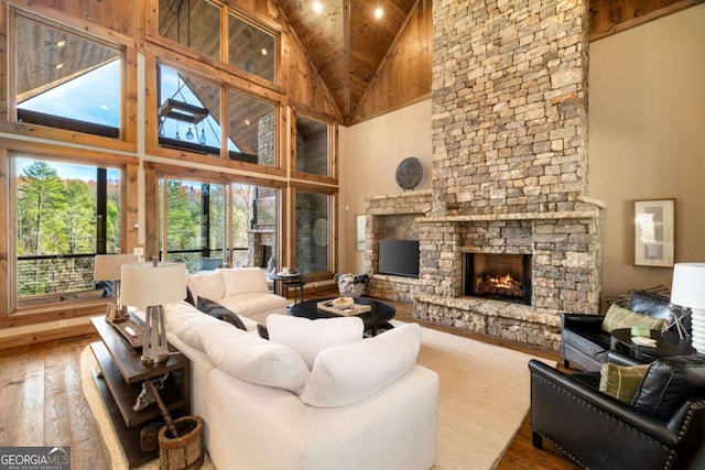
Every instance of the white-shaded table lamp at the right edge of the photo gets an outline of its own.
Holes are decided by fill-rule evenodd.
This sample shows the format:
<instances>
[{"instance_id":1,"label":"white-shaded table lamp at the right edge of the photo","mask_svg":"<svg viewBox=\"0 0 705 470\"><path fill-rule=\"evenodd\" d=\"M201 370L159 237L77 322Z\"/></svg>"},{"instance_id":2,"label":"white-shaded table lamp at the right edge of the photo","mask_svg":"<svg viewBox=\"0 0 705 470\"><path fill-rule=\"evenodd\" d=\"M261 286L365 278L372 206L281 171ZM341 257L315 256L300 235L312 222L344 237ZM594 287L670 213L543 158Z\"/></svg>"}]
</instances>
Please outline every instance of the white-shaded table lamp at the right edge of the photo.
<instances>
[{"instance_id":1,"label":"white-shaded table lamp at the right edge of the photo","mask_svg":"<svg viewBox=\"0 0 705 470\"><path fill-rule=\"evenodd\" d=\"M693 348L705 353L705 263L675 263L671 304L691 309Z\"/></svg>"}]
</instances>

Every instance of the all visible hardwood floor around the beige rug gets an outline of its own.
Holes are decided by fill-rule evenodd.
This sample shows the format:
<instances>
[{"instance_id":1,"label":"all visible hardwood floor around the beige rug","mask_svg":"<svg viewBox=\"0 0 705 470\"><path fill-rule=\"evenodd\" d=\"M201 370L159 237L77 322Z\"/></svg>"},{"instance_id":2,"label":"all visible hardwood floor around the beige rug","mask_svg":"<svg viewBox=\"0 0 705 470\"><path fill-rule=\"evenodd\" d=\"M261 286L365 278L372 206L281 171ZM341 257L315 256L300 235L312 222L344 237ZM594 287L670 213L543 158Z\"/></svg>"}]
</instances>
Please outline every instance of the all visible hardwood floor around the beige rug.
<instances>
[{"instance_id":1,"label":"all visible hardwood floor around the beige rug","mask_svg":"<svg viewBox=\"0 0 705 470\"><path fill-rule=\"evenodd\" d=\"M419 320L413 318L410 305L392 304L399 320L560 361L555 352ZM108 450L80 387L80 352L98 339L97 335L84 336L0 349L0 446L70 446L72 469L110 467ZM529 417L497 467L499 470L577 468L547 442L543 450L533 448Z\"/></svg>"}]
</instances>

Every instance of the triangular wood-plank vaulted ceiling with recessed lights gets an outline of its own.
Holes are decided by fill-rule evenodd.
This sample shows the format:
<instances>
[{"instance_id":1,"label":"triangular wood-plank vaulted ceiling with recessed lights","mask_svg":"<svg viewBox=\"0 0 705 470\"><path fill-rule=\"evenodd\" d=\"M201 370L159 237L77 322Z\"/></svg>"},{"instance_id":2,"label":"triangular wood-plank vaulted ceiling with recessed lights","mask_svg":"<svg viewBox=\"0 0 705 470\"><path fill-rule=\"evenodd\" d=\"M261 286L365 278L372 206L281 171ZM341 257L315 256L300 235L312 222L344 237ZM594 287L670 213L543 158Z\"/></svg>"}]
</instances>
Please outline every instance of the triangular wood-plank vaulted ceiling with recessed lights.
<instances>
[{"instance_id":1,"label":"triangular wood-plank vaulted ceiling with recessed lights","mask_svg":"<svg viewBox=\"0 0 705 470\"><path fill-rule=\"evenodd\" d=\"M279 0L344 121L419 1L431 0Z\"/></svg>"}]
</instances>

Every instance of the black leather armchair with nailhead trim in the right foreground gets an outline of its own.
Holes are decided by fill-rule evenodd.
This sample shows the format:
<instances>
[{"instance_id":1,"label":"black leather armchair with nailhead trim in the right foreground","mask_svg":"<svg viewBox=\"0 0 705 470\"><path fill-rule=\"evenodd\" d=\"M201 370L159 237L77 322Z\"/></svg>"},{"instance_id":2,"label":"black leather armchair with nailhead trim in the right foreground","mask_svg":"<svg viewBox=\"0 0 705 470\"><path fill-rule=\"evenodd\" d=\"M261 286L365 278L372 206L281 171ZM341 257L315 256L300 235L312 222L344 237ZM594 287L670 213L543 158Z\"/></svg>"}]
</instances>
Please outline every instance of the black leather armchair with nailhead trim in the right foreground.
<instances>
[{"instance_id":1,"label":"black leather armchair with nailhead trim in the right foreground","mask_svg":"<svg viewBox=\"0 0 705 470\"><path fill-rule=\"evenodd\" d=\"M654 361L631 405L599 392L599 373L529 369L535 448L549 439L596 470L705 468L705 357Z\"/></svg>"}]
</instances>

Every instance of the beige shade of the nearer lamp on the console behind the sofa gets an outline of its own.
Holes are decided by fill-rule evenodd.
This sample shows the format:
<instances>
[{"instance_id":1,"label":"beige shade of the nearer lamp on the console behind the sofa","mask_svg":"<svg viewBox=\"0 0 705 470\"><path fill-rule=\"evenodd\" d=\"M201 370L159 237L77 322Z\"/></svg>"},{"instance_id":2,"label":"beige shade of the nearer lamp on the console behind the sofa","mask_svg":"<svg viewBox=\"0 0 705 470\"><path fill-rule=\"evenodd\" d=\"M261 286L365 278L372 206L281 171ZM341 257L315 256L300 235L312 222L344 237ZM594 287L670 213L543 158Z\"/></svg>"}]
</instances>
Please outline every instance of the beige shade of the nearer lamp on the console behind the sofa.
<instances>
[{"instance_id":1,"label":"beige shade of the nearer lamp on the console behind the sofa","mask_svg":"<svg viewBox=\"0 0 705 470\"><path fill-rule=\"evenodd\" d=\"M186 298L186 266L183 263L124 264L122 305L149 307Z\"/></svg>"}]
</instances>

